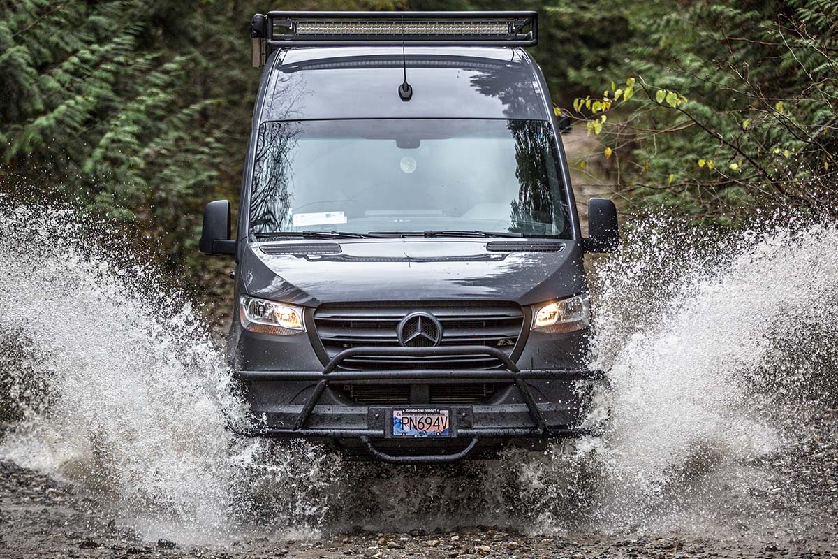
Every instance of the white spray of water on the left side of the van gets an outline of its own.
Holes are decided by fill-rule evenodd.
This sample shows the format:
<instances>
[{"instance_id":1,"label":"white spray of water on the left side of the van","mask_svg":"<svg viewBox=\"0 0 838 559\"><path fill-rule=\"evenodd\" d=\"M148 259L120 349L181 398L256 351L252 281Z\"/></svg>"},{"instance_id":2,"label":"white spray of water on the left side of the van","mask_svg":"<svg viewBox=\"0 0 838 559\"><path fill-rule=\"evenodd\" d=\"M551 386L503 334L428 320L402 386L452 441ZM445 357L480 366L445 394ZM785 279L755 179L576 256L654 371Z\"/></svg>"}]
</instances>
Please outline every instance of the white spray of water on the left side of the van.
<instances>
[{"instance_id":1,"label":"white spray of water on the left side of the van","mask_svg":"<svg viewBox=\"0 0 838 559\"><path fill-rule=\"evenodd\" d=\"M215 461L239 406L220 356L188 304L111 266L73 220L18 208L0 225L0 329L31 346L49 398L3 455L116 494L120 511L220 528L230 472Z\"/></svg>"}]
</instances>

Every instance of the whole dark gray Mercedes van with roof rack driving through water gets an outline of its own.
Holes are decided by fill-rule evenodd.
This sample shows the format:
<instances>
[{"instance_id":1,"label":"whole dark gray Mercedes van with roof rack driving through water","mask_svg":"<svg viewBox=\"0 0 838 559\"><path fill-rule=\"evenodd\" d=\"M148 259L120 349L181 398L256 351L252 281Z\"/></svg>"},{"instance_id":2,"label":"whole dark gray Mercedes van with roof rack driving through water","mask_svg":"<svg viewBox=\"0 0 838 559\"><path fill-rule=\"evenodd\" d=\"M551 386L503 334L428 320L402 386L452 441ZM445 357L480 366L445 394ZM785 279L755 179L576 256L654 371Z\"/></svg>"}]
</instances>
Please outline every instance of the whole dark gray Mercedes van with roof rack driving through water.
<instances>
[{"instance_id":1,"label":"whole dark gray Mercedes van with roof rack driving through water","mask_svg":"<svg viewBox=\"0 0 838 559\"><path fill-rule=\"evenodd\" d=\"M257 14L230 365L251 435L450 462L574 437L590 386L582 237L532 12Z\"/></svg>"}]
</instances>

